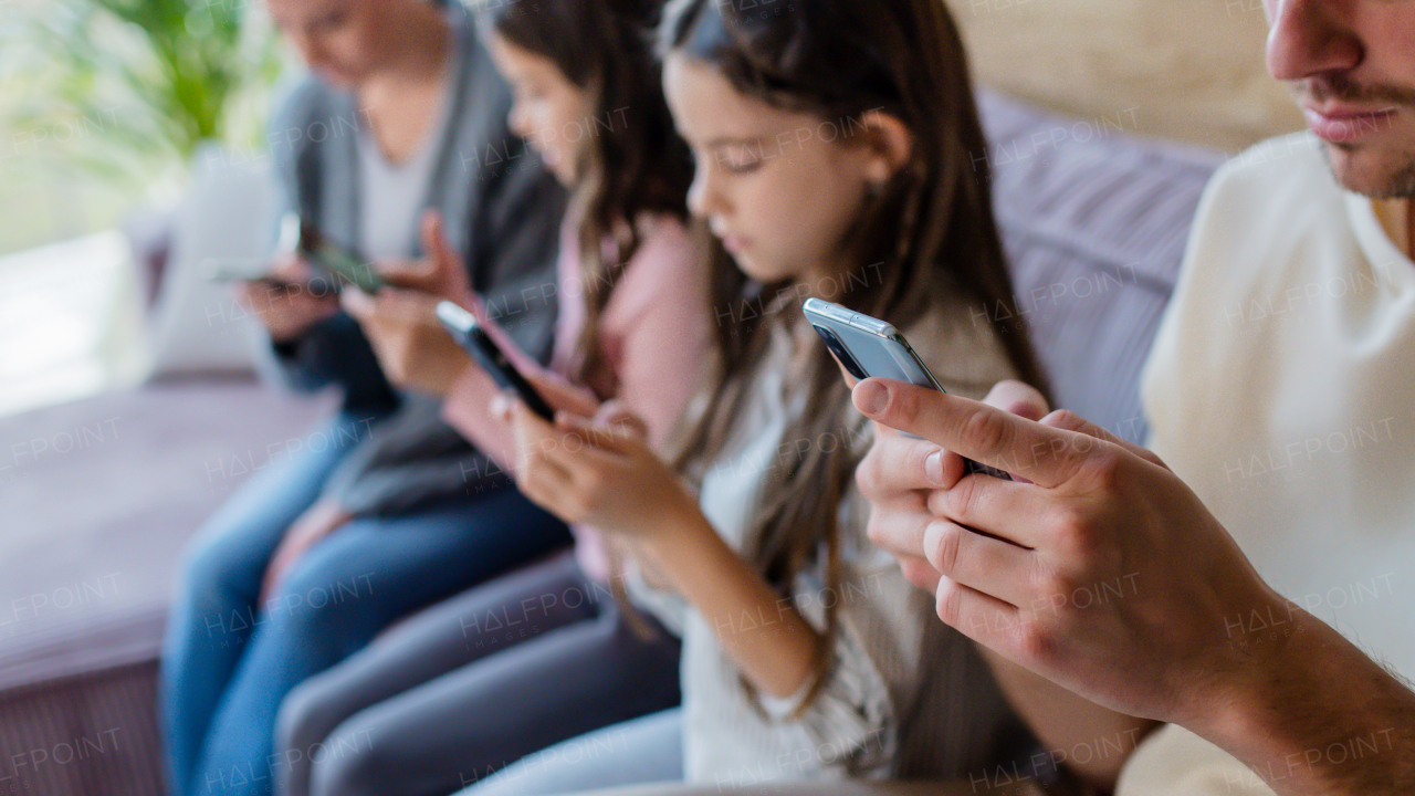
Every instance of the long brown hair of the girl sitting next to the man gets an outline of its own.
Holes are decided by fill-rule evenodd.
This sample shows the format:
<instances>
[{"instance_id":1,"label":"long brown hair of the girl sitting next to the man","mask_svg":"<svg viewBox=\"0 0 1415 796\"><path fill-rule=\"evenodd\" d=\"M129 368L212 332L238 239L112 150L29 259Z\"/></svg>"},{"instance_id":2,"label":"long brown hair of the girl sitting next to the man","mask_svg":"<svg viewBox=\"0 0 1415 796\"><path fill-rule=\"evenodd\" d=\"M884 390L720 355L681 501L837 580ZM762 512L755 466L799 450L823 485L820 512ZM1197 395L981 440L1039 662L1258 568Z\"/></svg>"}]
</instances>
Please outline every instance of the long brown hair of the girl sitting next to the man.
<instances>
[{"instance_id":1,"label":"long brown hair of the girl sitting next to the man","mask_svg":"<svg viewBox=\"0 0 1415 796\"><path fill-rule=\"evenodd\" d=\"M659 52L681 54L722 72L743 95L824 120L869 126L889 113L913 133L908 163L866 200L845 241L850 289L836 300L908 329L938 306L986 307L989 323L1017 377L1046 391L1024 329L999 317L1015 310L1012 279L992 211L986 152L962 41L940 0L791 0L780 7L743 0L681 0L659 27ZM869 271L869 273L866 273ZM741 275L716 279L713 306L763 306L763 296L792 295L787 285L758 285ZM750 381L767 356L773 319L799 314L743 313L720 326L723 380L689 436L682 463L722 456L734 421L750 401ZM945 374L947 375L947 374ZM828 589L841 586L839 503L863 455L859 421L824 346L807 365L807 408L784 442L805 452L777 462L749 534L751 561L790 596L804 567L821 565ZM842 438L842 432L845 436ZM839 593L839 592L833 592ZM838 635L826 610L826 637ZM829 647L816 660L809 704L829 676ZM804 707L804 705L802 705Z\"/></svg>"}]
</instances>

